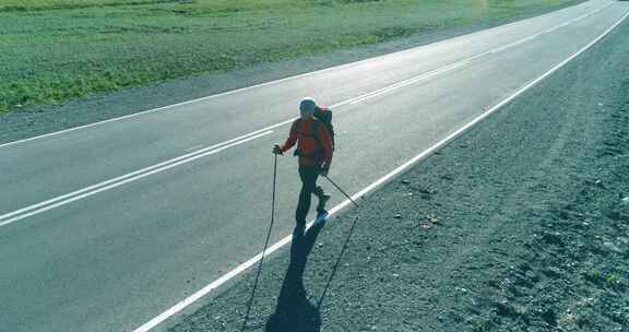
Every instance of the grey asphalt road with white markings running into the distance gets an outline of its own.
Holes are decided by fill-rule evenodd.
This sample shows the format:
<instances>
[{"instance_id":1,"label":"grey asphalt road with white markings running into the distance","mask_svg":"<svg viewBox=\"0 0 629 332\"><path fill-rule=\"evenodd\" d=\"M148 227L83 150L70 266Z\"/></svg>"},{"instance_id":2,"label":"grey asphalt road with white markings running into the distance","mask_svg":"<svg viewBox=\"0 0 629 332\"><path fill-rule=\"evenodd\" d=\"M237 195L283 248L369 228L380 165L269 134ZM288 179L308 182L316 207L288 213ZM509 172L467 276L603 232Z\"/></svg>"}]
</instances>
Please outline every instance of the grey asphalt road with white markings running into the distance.
<instances>
[{"instance_id":1,"label":"grey asphalt road with white markings running into the distance","mask_svg":"<svg viewBox=\"0 0 629 332\"><path fill-rule=\"evenodd\" d=\"M569 58L628 10L627 2L589 1L0 145L0 331L132 331L258 253L269 222L270 149L285 139L302 96L333 106L331 177L357 192ZM294 158L281 158L278 173L272 241L290 233L298 190ZM331 205L342 200L335 194Z\"/></svg>"}]
</instances>

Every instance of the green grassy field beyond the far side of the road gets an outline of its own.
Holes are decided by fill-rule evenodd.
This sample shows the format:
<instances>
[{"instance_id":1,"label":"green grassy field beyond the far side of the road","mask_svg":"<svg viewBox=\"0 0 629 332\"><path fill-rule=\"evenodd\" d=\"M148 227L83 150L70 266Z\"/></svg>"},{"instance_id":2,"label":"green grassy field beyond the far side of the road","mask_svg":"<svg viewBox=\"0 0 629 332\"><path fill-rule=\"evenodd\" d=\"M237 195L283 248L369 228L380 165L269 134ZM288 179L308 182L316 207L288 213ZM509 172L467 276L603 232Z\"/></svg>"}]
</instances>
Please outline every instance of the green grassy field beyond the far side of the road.
<instances>
[{"instance_id":1,"label":"green grassy field beyond the far side of the road","mask_svg":"<svg viewBox=\"0 0 629 332\"><path fill-rule=\"evenodd\" d=\"M580 0L3 0L0 111Z\"/></svg>"}]
</instances>

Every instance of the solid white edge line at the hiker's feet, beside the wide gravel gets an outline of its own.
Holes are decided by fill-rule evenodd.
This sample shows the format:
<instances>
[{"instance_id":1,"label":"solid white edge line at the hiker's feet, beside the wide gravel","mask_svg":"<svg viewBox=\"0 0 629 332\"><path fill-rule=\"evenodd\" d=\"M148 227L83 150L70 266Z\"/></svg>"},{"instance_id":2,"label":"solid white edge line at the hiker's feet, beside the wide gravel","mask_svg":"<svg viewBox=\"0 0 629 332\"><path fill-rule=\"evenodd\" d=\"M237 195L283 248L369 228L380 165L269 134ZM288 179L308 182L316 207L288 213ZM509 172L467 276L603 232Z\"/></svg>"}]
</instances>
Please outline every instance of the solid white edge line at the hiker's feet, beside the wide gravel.
<instances>
[{"instance_id":1,"label":"solid white edge line at the hiker's feet, beside the wide gravel","mask_svg":"<svg viewBox=\"0 0 629 332\"><path fill-rule=\"evenodd\" d=\"M366 193L372 191L373 189L376 189L377 187L381 186L382 183L389 181L391 178L395 177L396 175L401 174L402 171L406 170L410 166L412 166L413 164L417 163L419 159L424 158L425 156L429 155L430 153L435 152L436 150L442 147L443 145L446 145L448 142L450 142L451 140L453 140L454 138L456 138L458 135L460 135L462 132L464 132L465 130L470 129L472 126L476 124L477 122L479 122L480 120L485 119L487 116L489 116L490 114L495 112L496 110L498 110L500 107L505 106L506 104L510 103L511 100L513 100L515 97L518 97L519 95L521 95L522 93L524 93L525 91L527 91L529 88L531 88L532 86L534 86L535 84L539 83L539 81L546 79L548 75L550 75L551 73L556 72L558 69L562 68L563 66L566 66L566 63L570 62L572 59L574 59L575 57L578 57L579 55L581 55L582 52L584 52L585 50L588 50L590 47L592 47L594 44L598 43L598 40L601 40L603 37L605 37L609 32L612 32L616 26L618 26L625 19L627 19L627 16L629 15L629 11L618 21L616 22L612 27L609 27L607 31L605 31L602 35L600 35L598 37L596 37L592 43L588 44L585 47L583 47L582 49L580 49L579 51L577 51L575 54L573 54L572 56L570 56L568 59L563 60L562 62L560 62L559 64L555 66L553 69L550 69L549 71L547 71L546 73L544 73L542 76L537 78L536 80L532 81L531 83L524 85L524 87L520 88L519 91L517 91L515 93L513 93L511 96L507 97L506 99L503 99L502 102L498 103L496 106L491 107L490 109L488 109L487 111L485 111L484 114L482 114L480 116L476 117L474 120L472 120L471 122L466 123L465 126L461 127L460 129L458 129L456 131L454 131L453 133L449 134L447 138L444 138L443 140L437 142L436 144L434 144L432 146L430 146L429 149L425 150L424 152L422 152L420 154L418 154L417 156L413 157L412 159L410 159L408 162L402 164L401 166L399 166L397 168L393 169L391 173L387 174L385 176L381 177L380 179L378 179L377 181L375 181L373 183L367 186L365 189L358 191L357 193L355 193L352 199L353 200L357 200L360 197L365 195ZM344 209L345 206L347 206L348 204L351 204L349 200L345 200L344 202L340 203L339 205L334 206L332 210L330 210L330 215L333 215L334 213L337 213L339 211L341 211L342 209ZM310 222L310 224L308 224L308 227L310 227L312 225L312 222ZM273 246L271 246L269 249L266 249L266 253L264 254L264 257L273 253L274 251L276 251L277 249L282 248L283 246L285 246L286 244L290 242L290 240L293 239L293 236L286 236L283 239L281 239L278 242L274 244ZM162 323L163 321L165 321L166 319L170 318L171 316L178 313L179 311L183 310L186 307L188 307L189 305L193 304L194 301L197 301L198 299L202 298L203 296L207 295L210 292L212 292L213 289L215 289L216 287L223 285L225 282L227 282L228 280L237 276L238 274L242 273L244 271L246 271L248 268L250 268L251 265L253 265L254 263L257 263L258 261L260 261L260 259L262 258L262 252L258 253L257 256L254 256L253 258L251 258L250 260L248 260L247 262L240 264L239 266L237 266L236 269L232 270L230 272L228 272L227 274L223 275L222 277L219 277L218 280L210 283L207 286L201 288L200 290L195 292L194 294L192 294L191 296L187 297L186 299L179 301L178 304L176 304L175 306L170 307L168 310L159 313L158 316L156 316L155 318L153 318L152 320L150 320L149 322L144 323L143 325L137 328L135 330L133 330L133 332L147 332L151 329L155 328L156 325L158 325L159 323Z\"/></svg>"}]
</instances>

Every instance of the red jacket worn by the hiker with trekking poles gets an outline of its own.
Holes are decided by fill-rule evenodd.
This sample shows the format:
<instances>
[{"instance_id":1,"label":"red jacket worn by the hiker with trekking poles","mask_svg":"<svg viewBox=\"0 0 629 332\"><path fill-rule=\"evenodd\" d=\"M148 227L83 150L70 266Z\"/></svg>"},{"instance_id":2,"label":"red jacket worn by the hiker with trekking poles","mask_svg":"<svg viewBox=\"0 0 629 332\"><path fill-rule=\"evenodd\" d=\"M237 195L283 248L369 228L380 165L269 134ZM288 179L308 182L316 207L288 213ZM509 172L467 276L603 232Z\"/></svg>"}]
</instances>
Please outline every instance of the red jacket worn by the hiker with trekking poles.
<instances>
[{"instance_id":1,"label":"red jacket worn by the hiker with trekking poles","mask_svg":"<svg viewBox=\"0 0 629 332\"><path fill-rule=\"evenodd\" d=\"M318 123L312 133L312 121ZM325 124L312 117L297 119L290 127L286 143L280 149L282 152L290 150L297 143L299 166L321 166L330 168L332 164L332 139Z\"/></svg>"}]
</instances>

